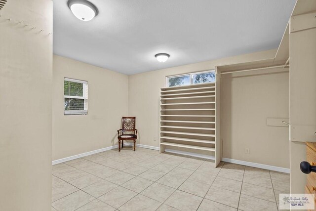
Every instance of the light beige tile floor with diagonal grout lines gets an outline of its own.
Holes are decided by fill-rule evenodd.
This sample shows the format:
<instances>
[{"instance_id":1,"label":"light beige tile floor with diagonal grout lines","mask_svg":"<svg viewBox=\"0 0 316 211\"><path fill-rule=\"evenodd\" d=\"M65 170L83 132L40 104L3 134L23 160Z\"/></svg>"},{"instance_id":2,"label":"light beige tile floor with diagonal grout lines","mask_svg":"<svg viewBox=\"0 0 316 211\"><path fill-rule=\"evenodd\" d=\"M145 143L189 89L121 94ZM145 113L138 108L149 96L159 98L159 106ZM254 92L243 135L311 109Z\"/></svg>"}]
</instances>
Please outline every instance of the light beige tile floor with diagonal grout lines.
<instances>
[{"instance_id":1,"label":"light beige tile floor with diagonal grout lines","mask_svg":"<svg viewBox=\"0 0 316 211\"><path fill-rule=\"evenodd\" d=\"M124 147L53 166L52 211L277 211L289 174Z\"/></svg>"}]
</instances>

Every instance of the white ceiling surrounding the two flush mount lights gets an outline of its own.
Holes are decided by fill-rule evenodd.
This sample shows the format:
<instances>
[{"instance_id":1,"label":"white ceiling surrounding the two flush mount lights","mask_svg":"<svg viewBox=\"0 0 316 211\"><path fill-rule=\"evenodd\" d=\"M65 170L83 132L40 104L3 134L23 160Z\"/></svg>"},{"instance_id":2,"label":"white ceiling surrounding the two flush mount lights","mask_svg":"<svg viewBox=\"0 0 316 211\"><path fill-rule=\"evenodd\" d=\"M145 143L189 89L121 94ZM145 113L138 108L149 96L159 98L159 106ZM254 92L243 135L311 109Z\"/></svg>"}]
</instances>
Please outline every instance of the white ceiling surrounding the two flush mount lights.
<instances>
[{"instance_id":1,"label":"white ceiling surrounding the two flush mount lights","mask_svg":"<svg viewBox=\"0 0 316 211\"><path fill-rule=\"evenodd\" d=\"M278 47L295 0L54 0L54 53L127 75ZM168 53L159 63L155 54Z\"/></svg>"}]
</instances>

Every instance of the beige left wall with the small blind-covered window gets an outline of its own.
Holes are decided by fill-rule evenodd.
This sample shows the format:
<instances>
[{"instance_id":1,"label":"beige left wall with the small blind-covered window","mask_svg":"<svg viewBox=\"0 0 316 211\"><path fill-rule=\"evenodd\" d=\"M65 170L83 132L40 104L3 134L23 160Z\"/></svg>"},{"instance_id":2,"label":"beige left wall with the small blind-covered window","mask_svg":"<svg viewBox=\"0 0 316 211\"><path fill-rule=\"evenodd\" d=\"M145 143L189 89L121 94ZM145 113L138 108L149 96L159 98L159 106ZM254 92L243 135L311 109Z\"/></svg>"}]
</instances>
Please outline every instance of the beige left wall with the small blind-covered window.
<instances>
[{"instance_id":1,"label":"beige left wall with the small blind-covered window","mask_svg":"<svg viewBox=\"0 0 316 211\"><path fill-rule=\"evenodd\" d=\"M87 115L64 116L64 77L88 81ZM117 144L127 84L126 75L54 55L53 160Z\"/></svg>"}]
</instances>

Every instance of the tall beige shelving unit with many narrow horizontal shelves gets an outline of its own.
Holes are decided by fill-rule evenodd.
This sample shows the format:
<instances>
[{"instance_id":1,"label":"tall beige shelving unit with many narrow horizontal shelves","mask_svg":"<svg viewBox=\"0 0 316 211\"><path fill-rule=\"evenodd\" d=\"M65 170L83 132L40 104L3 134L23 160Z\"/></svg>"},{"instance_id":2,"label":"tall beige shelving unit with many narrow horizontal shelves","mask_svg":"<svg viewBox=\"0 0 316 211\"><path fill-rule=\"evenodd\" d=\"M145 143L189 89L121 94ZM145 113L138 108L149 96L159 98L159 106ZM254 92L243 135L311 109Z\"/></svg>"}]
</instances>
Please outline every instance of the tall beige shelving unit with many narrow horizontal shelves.
<instances>
[{"instance_id":1,"label":"tall beige shelving unit with many narrow horizontal shelves","mask_svg":"<svg viewBox=\"0 0 316 211\"><path fill-rule=\"evenodd\" d=\"M216 83L160 88L160 153L167 148L204 154L218 165L218 89Z\"/></svg>"}]
</instances>

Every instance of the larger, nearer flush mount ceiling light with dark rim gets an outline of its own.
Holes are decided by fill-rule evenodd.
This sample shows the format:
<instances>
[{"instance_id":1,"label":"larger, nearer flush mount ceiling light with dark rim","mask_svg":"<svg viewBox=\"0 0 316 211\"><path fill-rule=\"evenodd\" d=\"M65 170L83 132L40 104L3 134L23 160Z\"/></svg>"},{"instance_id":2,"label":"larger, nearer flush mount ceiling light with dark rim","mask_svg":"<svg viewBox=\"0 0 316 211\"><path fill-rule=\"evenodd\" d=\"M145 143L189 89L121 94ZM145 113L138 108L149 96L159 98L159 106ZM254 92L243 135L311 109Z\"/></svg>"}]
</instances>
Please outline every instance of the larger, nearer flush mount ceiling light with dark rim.
<instances>
[{"instance_id":1,"label":"larger, nearer flush mount ceiling light with dark rim","mask_svg":"<svg viewBox=\"0 0 316 211\"><path fill-rule=\"evenodd\" d=\"M92 20L98 14L97 7L87 0L69 0L68 7L82 21Z\"/></svg>"}]
</instances>

